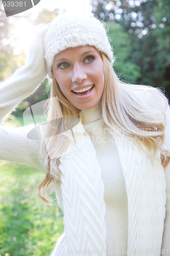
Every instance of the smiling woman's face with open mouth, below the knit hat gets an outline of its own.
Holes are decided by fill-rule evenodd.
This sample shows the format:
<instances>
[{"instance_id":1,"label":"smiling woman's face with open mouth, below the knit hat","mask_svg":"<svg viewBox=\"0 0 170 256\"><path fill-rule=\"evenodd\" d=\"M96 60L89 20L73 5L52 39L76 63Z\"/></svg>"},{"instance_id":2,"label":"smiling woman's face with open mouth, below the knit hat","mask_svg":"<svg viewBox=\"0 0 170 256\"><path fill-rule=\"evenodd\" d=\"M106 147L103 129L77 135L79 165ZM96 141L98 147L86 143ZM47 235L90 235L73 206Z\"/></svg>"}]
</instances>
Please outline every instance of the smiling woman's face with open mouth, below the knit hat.
<instances>
[{"instance_id":1,"label":"smiling woman's face with open mouth, below the knit hat","mask_svg":"<svg viewBox=\"0 0 170 256\"><path fill-rule=\"evenodd\" d=\"M93 108L104 89L103 61L93 46L67 48L56 54L54 76L65 98L79 110Z\"/></svg>"}]
</instances>

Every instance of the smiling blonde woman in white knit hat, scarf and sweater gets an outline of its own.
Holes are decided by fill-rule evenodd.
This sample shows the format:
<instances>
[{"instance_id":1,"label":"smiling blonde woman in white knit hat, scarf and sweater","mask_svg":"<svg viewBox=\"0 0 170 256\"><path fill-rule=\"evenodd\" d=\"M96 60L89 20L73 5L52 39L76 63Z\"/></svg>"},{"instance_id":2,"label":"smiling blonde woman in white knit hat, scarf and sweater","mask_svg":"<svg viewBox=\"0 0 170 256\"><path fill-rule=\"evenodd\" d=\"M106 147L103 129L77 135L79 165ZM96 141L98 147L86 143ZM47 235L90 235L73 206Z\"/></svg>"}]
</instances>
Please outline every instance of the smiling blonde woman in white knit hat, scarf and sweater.
<instances>
[{"instance_id":1,"label":"smiling blonde woman in white knit hat, scarf and sweater","mask_svg":"<svg viewBox=\"0 0 170 256\"><path fill-rule=\"evenodd\" d=\"M113 62L99 20L66 13L39 30L26 65L0 88L3 119L46 71L53 79L41 146L23 129L1 127L0 152L44 170L43 201L56 190L65 233L53 256L170 251L167 99L119 81Z\"/></svg>"}]
</instances>

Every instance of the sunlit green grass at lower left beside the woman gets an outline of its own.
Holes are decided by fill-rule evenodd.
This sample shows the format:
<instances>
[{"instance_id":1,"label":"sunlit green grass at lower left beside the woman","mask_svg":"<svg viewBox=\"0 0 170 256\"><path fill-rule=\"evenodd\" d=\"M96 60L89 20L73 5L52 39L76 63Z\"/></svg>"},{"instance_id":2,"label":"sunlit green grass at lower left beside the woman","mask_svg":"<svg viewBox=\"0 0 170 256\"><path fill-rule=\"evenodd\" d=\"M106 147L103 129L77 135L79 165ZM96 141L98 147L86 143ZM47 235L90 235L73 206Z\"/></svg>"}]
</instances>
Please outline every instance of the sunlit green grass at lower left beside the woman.
<instances>
[{"instance_id":1,"label":"sunlit green grass at lower left beside the woman","mask_svg":"<svg viewBox=\"0 0 170 256\"><path fill-rule=\"evenodd\" d=\"M0 162L0 256L48 256L63 232L55 195L52 205L39 198L43 179L32 165Z\"/></svg>"}]
</instances>

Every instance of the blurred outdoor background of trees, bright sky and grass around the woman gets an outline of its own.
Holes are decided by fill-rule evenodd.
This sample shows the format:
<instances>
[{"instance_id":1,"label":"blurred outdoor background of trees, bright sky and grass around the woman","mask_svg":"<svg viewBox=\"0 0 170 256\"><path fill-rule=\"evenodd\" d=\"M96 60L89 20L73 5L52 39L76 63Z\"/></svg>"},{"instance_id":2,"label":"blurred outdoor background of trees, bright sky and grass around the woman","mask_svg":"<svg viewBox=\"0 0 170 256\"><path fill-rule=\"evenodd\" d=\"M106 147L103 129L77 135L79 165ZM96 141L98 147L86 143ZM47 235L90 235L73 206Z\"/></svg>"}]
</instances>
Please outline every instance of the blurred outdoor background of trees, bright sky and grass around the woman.
<instances>
[{"instance_id":1,"label":"blurred outdoor background of trees, bright sky and grass around the woman","mask_svg":"<svg viewBox=\"0 0 170 256\"><path fill-rule=\"evenodd\" d=\"M116 59L114 69L122 80L159 87L170 97L169 0L41 0L34 8L8 18L0 2L0 80L24 64L34 26L50 22L64 10L93 12L106 23ZM49 92L46 79L3 125L23 125L23 111L46 99ZM41 170L34 166L0 162L0 256L49 255L63 232L55 195L48 206L36 193L42 179Z\"/></svg>"}]
</instances>

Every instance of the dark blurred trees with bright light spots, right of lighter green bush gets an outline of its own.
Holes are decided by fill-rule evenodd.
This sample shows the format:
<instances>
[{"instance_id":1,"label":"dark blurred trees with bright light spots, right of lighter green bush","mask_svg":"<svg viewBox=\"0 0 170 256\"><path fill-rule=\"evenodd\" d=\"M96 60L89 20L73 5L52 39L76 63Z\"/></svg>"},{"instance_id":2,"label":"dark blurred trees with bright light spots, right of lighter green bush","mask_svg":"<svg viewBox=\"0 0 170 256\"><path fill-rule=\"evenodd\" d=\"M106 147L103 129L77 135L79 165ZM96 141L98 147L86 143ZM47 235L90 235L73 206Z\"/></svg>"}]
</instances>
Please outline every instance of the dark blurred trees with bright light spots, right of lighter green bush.
<instances>
[{"instance_id":1,"label":"dark blurred trees with bright light spots, right of lighter green bush","mask_svg":"<svg viewBox=\"0 0 170 256\"><path fill-rule=\"evenodd\" d=\"M129 61L141 71L136 82L163 87L170 96L170 1L91 0L91 3L93 12L105 22L114 20L130 34Z\"/></svg>"}]
</instances>

